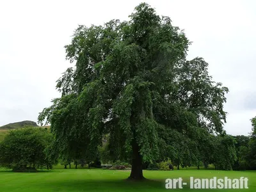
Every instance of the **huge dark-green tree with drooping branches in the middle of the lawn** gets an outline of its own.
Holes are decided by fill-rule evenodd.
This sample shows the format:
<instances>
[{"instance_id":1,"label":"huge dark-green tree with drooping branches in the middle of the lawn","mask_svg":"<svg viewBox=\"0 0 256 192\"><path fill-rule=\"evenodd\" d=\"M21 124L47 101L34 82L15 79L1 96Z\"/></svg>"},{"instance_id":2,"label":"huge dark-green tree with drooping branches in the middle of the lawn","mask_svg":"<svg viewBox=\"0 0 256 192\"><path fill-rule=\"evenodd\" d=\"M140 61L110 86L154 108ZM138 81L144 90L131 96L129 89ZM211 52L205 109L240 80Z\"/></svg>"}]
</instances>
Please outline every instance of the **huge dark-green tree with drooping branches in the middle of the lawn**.
<instances>
[{"instance_id":1,"label":"huge dark-green tree with drooping branches in the middle of the lawn","mask_svg":"<svg viewBox=\"0 0 256 192\"><path fill-rule=\"evenodd\" d=\"M111 155L130 159L129 178L143 179L143 161L172 156L173 141L196 141L201 129L223 132L228 90L202 58L186 61L190 42L169 17L141 3L129 18L76 29L65 46L76 66L58 80L61 98L38 121L46 118L56 140L83 145L86 156L109 134Z\"/></svg>"}]
</instances>

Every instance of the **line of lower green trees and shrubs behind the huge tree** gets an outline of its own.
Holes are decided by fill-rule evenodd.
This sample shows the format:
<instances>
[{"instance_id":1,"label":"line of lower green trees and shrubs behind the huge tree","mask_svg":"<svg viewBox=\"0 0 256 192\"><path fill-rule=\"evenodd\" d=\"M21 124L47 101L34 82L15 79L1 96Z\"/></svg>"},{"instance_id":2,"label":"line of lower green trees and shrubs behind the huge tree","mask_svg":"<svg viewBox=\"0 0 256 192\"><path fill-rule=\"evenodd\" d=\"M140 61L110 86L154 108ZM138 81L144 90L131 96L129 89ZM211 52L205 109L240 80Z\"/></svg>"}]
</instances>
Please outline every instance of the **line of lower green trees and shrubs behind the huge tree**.
<instances>
[{"instance_id":1,"label":"line of lower green trees and shrubs behind the huge tree","mask_svg":"<svg viewBox=\"0 0 256 192\"><path fill-rule=\"evenodd\" d=\"M250 136L230 136L227 134L214 136L207 132L198 134L198 140L190 140L178 132L172 132L170 148L164 151L154 162L144 162L143 168L156 167L163 161L172 161L179 169L184 166L202 166L214 164L218 170L255 170L255 119L252 119L253 132ZM14 171L31 172L37 168L52 168L61 163L65 168L71 163L100 168L104 164L132 163L131 158L118 158L109 146L109 135L104 137L102 146L98 147L95 159L86 156L77 146L77 150L65 154L58 152L56 141L47 129L26 128L10 131L0 143L0 166L12 168ZM182 142L180 142L182 141ZM169 160L170 159L170 160ZM167 162L166 162L167 163ZM122 163L121 163L122 164Z\"/></svg>"}]
</instances>

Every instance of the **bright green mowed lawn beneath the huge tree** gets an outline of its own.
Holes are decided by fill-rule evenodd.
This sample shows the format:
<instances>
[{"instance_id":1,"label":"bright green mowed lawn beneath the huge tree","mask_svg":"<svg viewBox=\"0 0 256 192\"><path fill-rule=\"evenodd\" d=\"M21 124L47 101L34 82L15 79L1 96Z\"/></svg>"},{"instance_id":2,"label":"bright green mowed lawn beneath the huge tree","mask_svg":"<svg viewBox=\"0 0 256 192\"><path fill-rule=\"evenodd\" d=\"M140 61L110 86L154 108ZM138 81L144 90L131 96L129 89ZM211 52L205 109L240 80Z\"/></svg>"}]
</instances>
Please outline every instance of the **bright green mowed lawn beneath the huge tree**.
<instances>
[{"instance_id":1,"label":"bright green mowed lawn beneath the huge tree","mask_svg":"<svg viewBox=\"0 0 256 192\"><path fill-rule=\"evenodd\" d=\"M216 170L174 170L143 171L148 180L134 182L125 180L130 171L102 169L63 169L37 173L13 173L0 171L0 191L166 191L165 180L179 178L189 182L194 178L240 178L248 177L249 189L200 189L200 191L256 191L256 172L225 172ZM172 191L198 191L189 189L170 189Z\"/></svg>"}]
</instances>

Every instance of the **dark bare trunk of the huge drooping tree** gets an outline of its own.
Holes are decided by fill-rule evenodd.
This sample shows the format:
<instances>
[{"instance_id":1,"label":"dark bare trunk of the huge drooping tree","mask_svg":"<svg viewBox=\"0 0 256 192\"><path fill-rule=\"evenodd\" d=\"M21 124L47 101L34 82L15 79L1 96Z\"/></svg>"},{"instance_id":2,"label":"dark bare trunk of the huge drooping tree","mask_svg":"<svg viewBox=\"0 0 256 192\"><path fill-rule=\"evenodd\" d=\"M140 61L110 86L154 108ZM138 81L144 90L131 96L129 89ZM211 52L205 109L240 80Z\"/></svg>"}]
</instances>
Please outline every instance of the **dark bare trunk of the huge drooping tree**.
<instances>
[{"instance_id":1,"label":"dark bare trunk of the huge drooping tree","mask_svg":"<svg viewBox=\"0 0 256 192\"><path fill-rule=\"evenodd\" d=\"M132 171L128 179L145 179L145 177L143 177L142 166L142 156L140 155L139 152L139 145L138 143L134 142L134 144L132 145Z\"/></svg>"}]
</instances>

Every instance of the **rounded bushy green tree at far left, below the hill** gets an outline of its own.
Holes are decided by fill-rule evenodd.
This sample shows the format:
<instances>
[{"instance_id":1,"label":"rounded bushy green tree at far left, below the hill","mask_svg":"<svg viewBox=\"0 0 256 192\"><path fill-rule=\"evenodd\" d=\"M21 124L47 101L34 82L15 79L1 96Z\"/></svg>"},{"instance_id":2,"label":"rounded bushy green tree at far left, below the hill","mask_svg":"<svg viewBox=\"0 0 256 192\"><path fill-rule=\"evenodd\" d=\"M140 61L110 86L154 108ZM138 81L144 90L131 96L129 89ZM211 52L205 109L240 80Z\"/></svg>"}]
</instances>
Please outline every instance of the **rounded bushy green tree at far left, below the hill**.
<instances>
[{"instance_id":1,"label":"rounded bushy green tree at far left, below the hill","mask_svg":"<svg viewBox=\"0 0 256 192\"><path fill-rule=\"evenodd\" d=\"M0 166L16 172L51 168L52 161L45 149L52 141L52 134L40 128L16 129L8 132L0 143Z\"/></svg>"}]
</instances>

